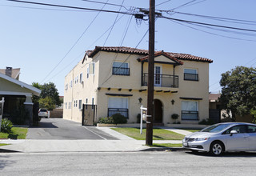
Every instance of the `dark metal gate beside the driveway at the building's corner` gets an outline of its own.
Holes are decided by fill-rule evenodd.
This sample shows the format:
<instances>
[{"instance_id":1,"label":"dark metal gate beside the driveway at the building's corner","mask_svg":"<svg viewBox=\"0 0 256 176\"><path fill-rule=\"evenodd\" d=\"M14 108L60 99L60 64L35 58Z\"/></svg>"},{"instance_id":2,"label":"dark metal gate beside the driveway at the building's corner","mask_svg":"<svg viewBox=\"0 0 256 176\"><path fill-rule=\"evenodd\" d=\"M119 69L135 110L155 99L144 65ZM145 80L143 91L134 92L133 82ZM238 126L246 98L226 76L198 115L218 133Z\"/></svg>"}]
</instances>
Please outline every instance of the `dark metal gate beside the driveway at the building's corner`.
<instances>
[{"instance_id":1,"label":"dark metal gate beside the driveway at the building's corner","mask_svg":"<svg viewBox=\"0 0 256 176\"><path fill-rule=\"evenodd\" d=\"M94 126L96 105L82 104L82 126Z\"/></svg>"}]
</instances>

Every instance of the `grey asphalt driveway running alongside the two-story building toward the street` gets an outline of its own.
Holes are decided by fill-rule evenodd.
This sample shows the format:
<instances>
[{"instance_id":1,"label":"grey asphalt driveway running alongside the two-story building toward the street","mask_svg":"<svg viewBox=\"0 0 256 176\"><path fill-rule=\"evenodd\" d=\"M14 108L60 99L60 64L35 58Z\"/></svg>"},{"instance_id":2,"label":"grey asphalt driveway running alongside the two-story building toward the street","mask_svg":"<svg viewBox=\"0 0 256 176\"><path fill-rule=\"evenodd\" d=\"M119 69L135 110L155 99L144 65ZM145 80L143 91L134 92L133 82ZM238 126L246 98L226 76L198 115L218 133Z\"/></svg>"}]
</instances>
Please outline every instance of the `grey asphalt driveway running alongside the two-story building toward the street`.
<instances>
[{"instance_id":1,"label":"grey asphalt driveway running alongside the two-story building toward the street","mask_svg":"<svg viewBox=\"0 0 256 176\"><path fill-rule=\"evenodd\" d=\"M42 118L39 126L30 127L27 139L90 139L90 140L118 140L106 134L95 126L82 126L62 118Z\"/></svg>"}]
</instances>

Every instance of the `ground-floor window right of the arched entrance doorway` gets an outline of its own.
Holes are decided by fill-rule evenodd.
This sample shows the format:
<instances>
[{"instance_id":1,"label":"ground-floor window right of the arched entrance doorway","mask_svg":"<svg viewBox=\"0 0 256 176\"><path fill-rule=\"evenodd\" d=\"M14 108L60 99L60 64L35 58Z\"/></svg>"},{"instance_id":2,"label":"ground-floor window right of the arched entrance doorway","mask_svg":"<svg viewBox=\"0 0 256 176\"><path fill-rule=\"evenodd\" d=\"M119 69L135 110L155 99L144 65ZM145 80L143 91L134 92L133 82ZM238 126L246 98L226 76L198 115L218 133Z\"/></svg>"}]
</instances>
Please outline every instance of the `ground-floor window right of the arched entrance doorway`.
<instances>
[{"instance_id":1,"label":"ground-floor window right of the arched entrance doorway","mask_svg":"<svg viewBox=\"0 0 256 176\"><path fill-rule=\"evenodd\" d=\"M182 101L182 120L198 120L197 101Z\"/></svg>"}]
</instances>

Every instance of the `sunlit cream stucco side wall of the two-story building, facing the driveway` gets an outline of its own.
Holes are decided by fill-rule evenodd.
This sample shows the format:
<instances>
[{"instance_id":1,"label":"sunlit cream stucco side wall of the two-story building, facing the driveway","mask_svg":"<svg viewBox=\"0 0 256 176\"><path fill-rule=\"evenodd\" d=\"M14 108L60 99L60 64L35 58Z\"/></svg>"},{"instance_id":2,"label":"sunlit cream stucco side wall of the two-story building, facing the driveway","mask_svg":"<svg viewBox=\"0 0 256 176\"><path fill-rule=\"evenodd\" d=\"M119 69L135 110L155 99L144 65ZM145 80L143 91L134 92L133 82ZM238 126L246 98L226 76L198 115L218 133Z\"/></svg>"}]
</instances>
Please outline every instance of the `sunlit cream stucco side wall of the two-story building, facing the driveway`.
<instances>
[{"instance_id":1,"label":"sunlit cream stucco side wall of the two-story building, facing the driveway","mask_svg":"<svg viewBox=\"0 0 256 176\"><path fill-rule=\"evenodd\" d=\"M87 67L93 62L95 63L94 74L89 74L89 78L87 78ZM68 85L68 88L64 90L63 118L82 122L82 110L79 110L78 107L79 100L82 100L82 104L86 104L86 98L88 98L88 104L91 104L92 98L94 98L94 104L97 104L98 68L97 59L93 61L91 58L87 58L84 63L82 60L78 62L78 65L74 66L74 69L66 75L64 86ZM82 83L80 82L81 73ZM74 81L76 77L78 77L77 83ZM72 87L70 87L71 80ZM78 101L78 106L74 107L74 101ZM70 109L68 108L69 102L71 104Z\"/></svg>"}]
</instances>

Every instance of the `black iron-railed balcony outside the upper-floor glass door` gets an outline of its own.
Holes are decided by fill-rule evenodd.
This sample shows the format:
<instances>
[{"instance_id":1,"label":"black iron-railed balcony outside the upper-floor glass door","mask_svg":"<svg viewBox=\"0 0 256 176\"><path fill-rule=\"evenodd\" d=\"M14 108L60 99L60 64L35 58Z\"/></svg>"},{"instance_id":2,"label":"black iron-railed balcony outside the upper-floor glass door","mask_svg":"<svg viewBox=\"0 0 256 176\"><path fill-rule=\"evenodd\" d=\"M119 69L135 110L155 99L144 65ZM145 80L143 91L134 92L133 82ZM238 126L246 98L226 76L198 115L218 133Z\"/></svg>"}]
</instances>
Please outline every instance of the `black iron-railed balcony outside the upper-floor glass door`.
<instances>
[{"instance_id":1,"label":"black iron-railed balcony outside the upper-floor glass door","mask_svg":"<svg viewBox=\"0 0 256 176\"><path fill-rule=\"evenodd\" d=\"M147 86L148 74L142 75L142 86ZM154 86L178 88L178 76L154 74Z\"/></svg>"}]
</instances>

